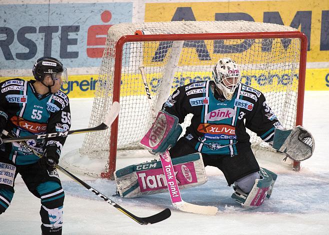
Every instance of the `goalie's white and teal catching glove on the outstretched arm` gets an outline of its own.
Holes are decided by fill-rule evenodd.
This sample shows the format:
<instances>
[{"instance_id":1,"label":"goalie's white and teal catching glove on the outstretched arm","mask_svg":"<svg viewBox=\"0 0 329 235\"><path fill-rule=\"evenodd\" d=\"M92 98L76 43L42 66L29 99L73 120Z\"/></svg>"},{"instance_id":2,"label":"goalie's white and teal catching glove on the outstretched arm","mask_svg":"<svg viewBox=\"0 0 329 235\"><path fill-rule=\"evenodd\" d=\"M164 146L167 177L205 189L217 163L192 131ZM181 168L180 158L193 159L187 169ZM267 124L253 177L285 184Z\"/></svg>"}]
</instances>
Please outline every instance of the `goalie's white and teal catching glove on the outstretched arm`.
<instances>
[{"instance_id":1,"label":"goalie's white and teal catching glove on the outstretched arm","mask_svg":"<svg viewBox=\"0 0 329 235\"><path fill-rule=\"evenodd\" d=\"M314 147L312 134L300 125L289 130L275 128L273 148L292 160L302 161L311 157Z\"/></svg>"}]
</instances>

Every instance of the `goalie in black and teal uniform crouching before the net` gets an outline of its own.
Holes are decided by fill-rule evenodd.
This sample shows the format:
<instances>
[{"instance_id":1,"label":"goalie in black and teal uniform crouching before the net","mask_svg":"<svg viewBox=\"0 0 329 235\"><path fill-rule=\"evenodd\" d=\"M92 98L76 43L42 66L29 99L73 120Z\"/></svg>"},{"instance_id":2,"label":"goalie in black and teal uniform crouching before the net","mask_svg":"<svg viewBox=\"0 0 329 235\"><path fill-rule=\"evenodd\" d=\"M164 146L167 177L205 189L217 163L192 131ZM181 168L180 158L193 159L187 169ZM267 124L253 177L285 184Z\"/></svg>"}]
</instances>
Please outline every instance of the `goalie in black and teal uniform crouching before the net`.
<instances>
[{"instance_id":1,"label":"goalie in black and teal uniform crouching before the net","mask_svg":"<svg viewBox=\"0 0 329 235\"><path fill-rule=\"evenodd\" d=\"M204 183L207 180L204 166L211 165L223 172L228 185L233 185L231 197L235 201L244 207L259 206L270 197L277 175L259 167L251 151L246 128L263 141L274 143L273 146L282 152L287 152L287 149L297 152L300 148L303 149L300 152L308 152L305 154L308 157L314 147L308 143L313 139L302 127L296 132L288 130L288 134L278 131L283 127L267 105L264 95L240 82L239 68L231 58L219 59L213 67L212 76L213 80L178 87L162 105L162 110L140 143L152 153L169 148L173 164L179 165L175 168L179 188ZM189 113L192 114L191 123L177 141L181 133L178 123L182 123ZM176 121L168 123L166 120L170 118L166 116ZM290 132L293 134L290 135ZM300 133L311 141L304 143L298 140ZM294 143L286 144L286 139L294 139ZM200 153L201 157L195 153ZM199 159L203 160L203 168ZM184 162L188 162L190 168ZM157 168L155 163L141 163L117 170L114 176L120 196L135 197L163 191L159 180L161 176L151 170L145 172L150 167ZM133 182L135 178L137 185Z\"/></svg>"}]
</instances>

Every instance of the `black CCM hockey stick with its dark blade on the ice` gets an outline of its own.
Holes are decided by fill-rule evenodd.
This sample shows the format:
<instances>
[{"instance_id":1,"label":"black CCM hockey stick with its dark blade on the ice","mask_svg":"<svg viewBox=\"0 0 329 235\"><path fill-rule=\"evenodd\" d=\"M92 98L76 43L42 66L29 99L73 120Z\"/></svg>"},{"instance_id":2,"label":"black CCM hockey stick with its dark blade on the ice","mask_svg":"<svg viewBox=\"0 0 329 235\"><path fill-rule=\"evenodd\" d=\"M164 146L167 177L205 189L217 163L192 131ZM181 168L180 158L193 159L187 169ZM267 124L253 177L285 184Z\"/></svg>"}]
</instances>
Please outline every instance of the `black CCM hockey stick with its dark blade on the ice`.
<instances>
[{"instance_id":1,"label":"black CCM hockey stick with its dark blade on the ice","mask_svg":"<svg viewBox=\"0 0 329 235\"><path fill-rule=\"evenodd\" d=\"M2 133L4 135L6 135L6 136L11 137L11 135L9 135L9 133L7 131L5 131L5 130L2 131ZM29 146L26 142L19 141L19 143L22 146L28 148L30 151L32 151L38 157L40 157L40 158L43 157L42 154L40 154L39 152L37 152L34 148L32 148L31 146ZM114 206L115 208L117 208L122 213L124 213L125 215L129 216L130 218L132 218L133 220L135 220L139 224L146 225L148 223L160 222L160 221L168 218L171 215L170 210L168 208L165 208L164 210L160 211L157 214L154 214L154 215L151 215L151 216L148 216L148 217L138 217L138 216L134 215L133 213L129 212L128 210L124 209L123 207L121 207L120 205L118 205L117 203L115 203L114 201L112 201L111 199L109 199L107 196L103 195L102 193L100 193L99 191L97 191L96 189L94 189L93 187L91 187L90 185L88 185L86 182L82 181L81 179L79 179L78 177L76 177L75 175L73 175L72 173L70 173L69 171L67 171L66 169L64 169L63 167L61 167L60 165L55 164L55 166L61 172L63 172L64 174L66 174L68 177L70 177L73 180L75 180L76 182L80 183L86 189L88 189L89 191L92 191L95 195L99 196L104 201L106 201L108 204Z\"/></svg>"}]
</instances>

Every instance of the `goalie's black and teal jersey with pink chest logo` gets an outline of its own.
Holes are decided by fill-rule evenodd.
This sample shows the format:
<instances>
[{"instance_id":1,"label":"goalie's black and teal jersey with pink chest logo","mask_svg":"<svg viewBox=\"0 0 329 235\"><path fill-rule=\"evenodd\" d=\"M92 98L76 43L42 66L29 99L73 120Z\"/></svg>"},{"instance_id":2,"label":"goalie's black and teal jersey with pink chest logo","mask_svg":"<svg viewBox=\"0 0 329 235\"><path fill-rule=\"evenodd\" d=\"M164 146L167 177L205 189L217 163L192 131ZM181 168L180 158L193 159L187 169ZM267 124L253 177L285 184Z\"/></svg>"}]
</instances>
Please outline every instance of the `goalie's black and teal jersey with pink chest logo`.
<instances>
[{"instance_id":1,"label":"goalie's black and teal jersey with pink chest logo","mask_svg":"<svg viewBox=\"0 0 329 235\"><path fill-rule=\"evenodd\" d=\"M213 95L213 81L199 81L178 87L162 109L184 121L192 113L184 137L195 150L207 154L236 155L250 149L246 128L266 142L273 140L277 117L266 104L264 95L239 84L231 100L218 100Z\"/></svg>"}]
</instances>

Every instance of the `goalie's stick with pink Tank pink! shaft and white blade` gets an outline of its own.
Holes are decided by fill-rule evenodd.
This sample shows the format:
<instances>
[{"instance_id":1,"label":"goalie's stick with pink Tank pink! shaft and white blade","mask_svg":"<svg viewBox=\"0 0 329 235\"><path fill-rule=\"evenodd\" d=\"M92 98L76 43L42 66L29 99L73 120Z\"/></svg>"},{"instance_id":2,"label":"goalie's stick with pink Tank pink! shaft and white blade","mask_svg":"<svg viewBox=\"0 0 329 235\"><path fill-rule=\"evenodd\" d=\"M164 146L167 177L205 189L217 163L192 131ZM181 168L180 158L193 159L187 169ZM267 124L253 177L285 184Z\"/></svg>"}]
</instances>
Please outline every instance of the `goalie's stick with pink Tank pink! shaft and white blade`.
<instances>
[{"instance_id":1,"label":"goalie's stick with pink Tank pink! shaft and white blade","mask_svg":"<svg viewBox=\"0 0 329 235\"><path fill-rule=\"evenodd\" d=\"M151 97L150 97L149 90L148 90L144 67L139 66L139 70L141 72L141 76L143 78L143 82L145 85L145 90L146 90L146 94L148 97L148 104L151 109L153 119L155 119L155 111L151 104ZM171 199L172 205L175 208L185 211L185 212L205 214L205 215L215 215L218 211L217 207L196 205L196 204L188 203L181 198L169 151L166 150L163 153L159 153L159 156L160 156L160 160L161 160L163 173L164 173L165 179L167 181L167 187L168 187L168 191L170 194L170 199Z\"/></svg>"}]
</instances>

